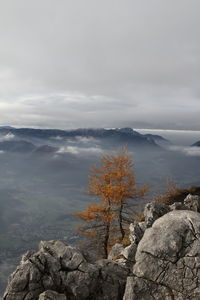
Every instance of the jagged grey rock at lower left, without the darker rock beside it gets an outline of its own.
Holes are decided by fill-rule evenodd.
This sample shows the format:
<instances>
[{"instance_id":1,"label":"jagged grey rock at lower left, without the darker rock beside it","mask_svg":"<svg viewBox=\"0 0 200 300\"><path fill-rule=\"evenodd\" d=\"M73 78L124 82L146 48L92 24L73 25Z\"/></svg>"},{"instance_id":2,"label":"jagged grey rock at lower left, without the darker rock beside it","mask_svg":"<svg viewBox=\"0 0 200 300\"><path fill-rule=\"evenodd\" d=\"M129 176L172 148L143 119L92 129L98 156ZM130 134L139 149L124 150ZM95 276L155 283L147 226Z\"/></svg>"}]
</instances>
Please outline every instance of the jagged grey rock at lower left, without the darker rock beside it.
<instances>
[{"instance_id":1,"label":"jagged grey rock at lower left, without the darker rock beside it","mask_svg":"<svg viewBox=\"0 0 200 300\"><path fill-rule=\"evenodd\" d=\"M46 290L67 290L86 299L98 276L98 267L87 263L76 248L60 241L41 242L40 250L26 256L11 275L3 299L35 300Z\"/></svg>"}]
</instances>

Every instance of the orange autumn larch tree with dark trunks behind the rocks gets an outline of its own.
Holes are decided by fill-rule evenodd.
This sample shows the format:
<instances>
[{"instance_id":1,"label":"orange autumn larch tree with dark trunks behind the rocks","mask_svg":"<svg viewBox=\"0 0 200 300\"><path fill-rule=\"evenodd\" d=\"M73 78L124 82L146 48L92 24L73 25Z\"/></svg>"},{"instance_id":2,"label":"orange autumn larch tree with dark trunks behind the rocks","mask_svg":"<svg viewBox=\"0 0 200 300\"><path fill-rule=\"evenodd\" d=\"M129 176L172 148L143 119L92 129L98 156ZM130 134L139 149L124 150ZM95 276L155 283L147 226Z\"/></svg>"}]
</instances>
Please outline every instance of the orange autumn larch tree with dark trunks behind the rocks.
<instances>
[{"instance_id":1,"label":"orange autumn larch tree with dark trunks behind the rocks","mask_svg":"<svg viewBox=\"0 0 200 300\"><path fill-rule=\"evenodd\" d=\"M79 231L92 239L90 246L107 257L110 247L125 239L128 225L134 221L135 200L143 199L147 192L147 187L136 186L132 158L127 149L117 155L103 156L101 167L92 167L88 192L98 202L76 213L84 221Z\"/></svg>"}]
</instances>

